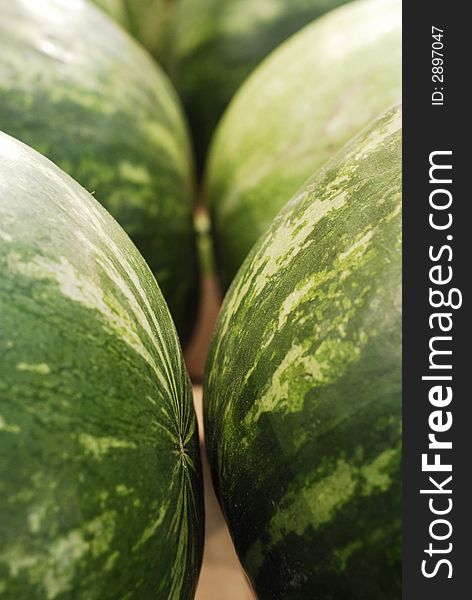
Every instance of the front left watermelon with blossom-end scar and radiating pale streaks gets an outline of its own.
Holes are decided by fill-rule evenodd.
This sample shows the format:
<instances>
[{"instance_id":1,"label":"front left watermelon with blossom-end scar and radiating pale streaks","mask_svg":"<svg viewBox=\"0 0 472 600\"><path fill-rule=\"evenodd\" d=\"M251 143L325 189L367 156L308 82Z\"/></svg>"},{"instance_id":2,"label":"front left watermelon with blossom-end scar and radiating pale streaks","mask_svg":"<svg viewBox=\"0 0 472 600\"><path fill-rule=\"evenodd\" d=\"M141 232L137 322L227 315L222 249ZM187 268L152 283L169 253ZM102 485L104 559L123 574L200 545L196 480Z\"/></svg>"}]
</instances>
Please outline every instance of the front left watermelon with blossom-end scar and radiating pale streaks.
<instances>
[{"instance_id":1,"label":"front left watermelon with blossom-end scar and radiating pale streaks","mask_svg":"<svg viewBox=\"0 0 472 600\"><path fill-rule=\"evenodd\" d=\"M193 598L197 425L177 333L125 232L0 134L0 597Z\"/></svg>"}]
</instances>

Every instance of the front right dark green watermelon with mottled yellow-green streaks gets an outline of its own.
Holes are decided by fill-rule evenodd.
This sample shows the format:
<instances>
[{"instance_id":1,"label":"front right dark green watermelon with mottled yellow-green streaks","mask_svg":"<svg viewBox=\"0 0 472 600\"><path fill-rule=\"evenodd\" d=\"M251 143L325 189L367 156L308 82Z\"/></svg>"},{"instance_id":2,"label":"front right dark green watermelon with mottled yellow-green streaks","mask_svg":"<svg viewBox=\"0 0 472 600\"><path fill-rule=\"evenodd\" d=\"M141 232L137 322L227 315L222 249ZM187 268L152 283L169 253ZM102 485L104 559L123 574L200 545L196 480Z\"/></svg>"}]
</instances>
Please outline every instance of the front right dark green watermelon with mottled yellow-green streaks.
<instances>
[{"instance_id":1,"label":"front right dark green watermelon with mottled yellow-green streaks","mask_svg":"<svg viewBox=\"0 0 472 600\"><path fill-rule=\"evenodd\" d=\"M279 213L207 363L215 488L260 599L401 597L401 112Z\"/></svg>"}]
</instances>

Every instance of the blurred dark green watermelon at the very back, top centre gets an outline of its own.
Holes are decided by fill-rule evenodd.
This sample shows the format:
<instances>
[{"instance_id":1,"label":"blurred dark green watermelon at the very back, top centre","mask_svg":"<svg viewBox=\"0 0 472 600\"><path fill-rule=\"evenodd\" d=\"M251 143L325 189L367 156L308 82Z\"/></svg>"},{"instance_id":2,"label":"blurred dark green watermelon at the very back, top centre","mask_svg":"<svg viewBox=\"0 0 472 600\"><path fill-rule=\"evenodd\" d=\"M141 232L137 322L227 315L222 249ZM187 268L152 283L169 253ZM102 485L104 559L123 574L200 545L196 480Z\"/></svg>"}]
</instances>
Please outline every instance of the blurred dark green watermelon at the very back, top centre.
<instances>
[{"instance_id":1,"label":"blurred dark green watermelon at the very back, top centre","mask_svg":"<svg viewBox=\"0 0 472 600\"><path fill-rule=\"evenodd\" d=\"M177 0L168 69L183 98L199 166L244 79L283 40L347 0Z\"/></svg>"}]
</instances>

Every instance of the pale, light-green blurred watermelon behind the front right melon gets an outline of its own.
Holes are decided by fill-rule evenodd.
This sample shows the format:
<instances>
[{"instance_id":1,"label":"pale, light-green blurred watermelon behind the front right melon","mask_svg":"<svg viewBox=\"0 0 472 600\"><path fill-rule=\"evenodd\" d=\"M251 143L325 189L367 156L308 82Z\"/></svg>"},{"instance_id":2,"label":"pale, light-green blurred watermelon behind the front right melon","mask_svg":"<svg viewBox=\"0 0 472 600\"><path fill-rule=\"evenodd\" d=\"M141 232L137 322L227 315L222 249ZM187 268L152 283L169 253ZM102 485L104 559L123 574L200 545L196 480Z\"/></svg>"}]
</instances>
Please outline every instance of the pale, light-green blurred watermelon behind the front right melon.
<instances>
[{"instance_id":1,"label":"pale, light-green blurred watermelon behind the front right melon","mask_svg":"<svg viewBox=\"0 0 472 600\"><path fill-rule=\"evenodd\" d=\"M206 180L225 288L286 200L400 100L399 0L336 9L256 70L223 117Z\"/></svg>"}]
</instances>

